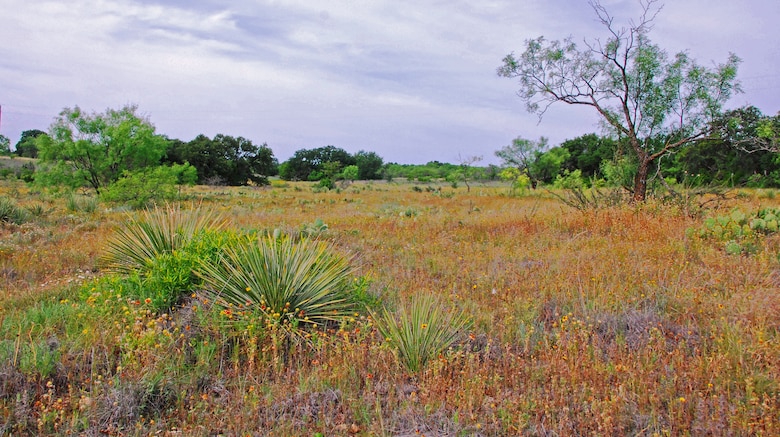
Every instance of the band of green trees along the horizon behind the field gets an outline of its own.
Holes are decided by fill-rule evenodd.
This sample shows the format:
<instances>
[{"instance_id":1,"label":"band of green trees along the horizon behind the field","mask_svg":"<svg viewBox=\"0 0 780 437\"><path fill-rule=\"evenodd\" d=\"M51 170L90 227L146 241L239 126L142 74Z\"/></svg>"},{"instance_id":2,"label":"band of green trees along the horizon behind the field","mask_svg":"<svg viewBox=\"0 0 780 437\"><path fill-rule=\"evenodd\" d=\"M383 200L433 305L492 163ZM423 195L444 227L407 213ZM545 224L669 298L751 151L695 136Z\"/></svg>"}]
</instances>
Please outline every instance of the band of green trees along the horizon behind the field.
<instances>
[{"instance_id":1,"label":"band of green trees along the horizon behind the field","mask_svg":"<svg viewBox=\"0 0 780 437\"><path fill-rule=\"evenodd\" d=\"M780 114L767 116L748 106L727 111L708 125L709 135L650 166L650 180L687 186L780 187L777 138ZM662 147L663 137L645 140ZM4 142L9 143L7 140ZM10 154L6 146L4 153ZM154 126L126 106L104 113L65 108L48 132L22 133L13 153L37 158L37 166L22 168L22 177L42 185L89 187L107 199L137 197L137 191L162 195L160 187L176 184L264 185L278 176L288 181L315 181L333 188L339 180L448 181L525 180L532 188L624 186L631 190L640 157L627 138L595 133L550 146L546 138L518 137L495 152L500 166L476 166L478 159L451 164L385 163L375 152L351 154L329 145L297 150L278 162L266 144L242 137L198 135L191 141L157 134ZM113 189L112 189L113 186ZM144 197L144 196L142 196Z\"/></svg>"}]
</instances>

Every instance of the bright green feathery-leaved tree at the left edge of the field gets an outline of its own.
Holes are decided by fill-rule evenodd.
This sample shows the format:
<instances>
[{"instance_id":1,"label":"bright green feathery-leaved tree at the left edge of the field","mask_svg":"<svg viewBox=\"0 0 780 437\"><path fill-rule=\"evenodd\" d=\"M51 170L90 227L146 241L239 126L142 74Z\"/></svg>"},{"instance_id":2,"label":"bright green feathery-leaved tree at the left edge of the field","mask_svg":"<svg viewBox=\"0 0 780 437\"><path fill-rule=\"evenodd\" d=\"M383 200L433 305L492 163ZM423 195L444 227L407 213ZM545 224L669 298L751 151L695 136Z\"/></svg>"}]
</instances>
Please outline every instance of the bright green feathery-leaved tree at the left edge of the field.
<instances>
[{"instance_id":1,"label":"bright green feathery-leaved tree at the left edge of the field","mask_svg":"<svg viewBox=\"0 0 780 437\"><path fill-rule=\"evenodd\" d=\"M36 141L36 182L88 186L100 194L124 172L158 165L166 140L136 111L134 105L100 114L87 114L78 106L63 109L49 135Z\"/></svg>"}]
</instances>

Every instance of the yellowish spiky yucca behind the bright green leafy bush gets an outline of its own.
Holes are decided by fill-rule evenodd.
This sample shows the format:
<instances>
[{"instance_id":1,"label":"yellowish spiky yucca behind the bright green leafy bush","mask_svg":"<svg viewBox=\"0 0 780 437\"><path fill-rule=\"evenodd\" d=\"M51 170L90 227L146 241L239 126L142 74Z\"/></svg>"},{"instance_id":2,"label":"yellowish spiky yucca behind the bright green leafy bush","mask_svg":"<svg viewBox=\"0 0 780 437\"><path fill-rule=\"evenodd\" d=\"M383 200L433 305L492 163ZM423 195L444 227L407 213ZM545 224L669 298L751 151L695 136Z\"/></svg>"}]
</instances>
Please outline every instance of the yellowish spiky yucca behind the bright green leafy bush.
<instances>
[{"instance_id":1,"label":"yellowish spiky yucca behind the bright green leafy bush","mask_svg":"<svg viewBox=\"0 0 780 437\"><path fill-rule=\"evenodd\" d=\"M209 209L155 206L144 210L140 218L131 217L116 231L101 262L118 273L144 271L159 256L186 246L198 232L225 225L226 220Z\"/></svg>"}]
</instances>

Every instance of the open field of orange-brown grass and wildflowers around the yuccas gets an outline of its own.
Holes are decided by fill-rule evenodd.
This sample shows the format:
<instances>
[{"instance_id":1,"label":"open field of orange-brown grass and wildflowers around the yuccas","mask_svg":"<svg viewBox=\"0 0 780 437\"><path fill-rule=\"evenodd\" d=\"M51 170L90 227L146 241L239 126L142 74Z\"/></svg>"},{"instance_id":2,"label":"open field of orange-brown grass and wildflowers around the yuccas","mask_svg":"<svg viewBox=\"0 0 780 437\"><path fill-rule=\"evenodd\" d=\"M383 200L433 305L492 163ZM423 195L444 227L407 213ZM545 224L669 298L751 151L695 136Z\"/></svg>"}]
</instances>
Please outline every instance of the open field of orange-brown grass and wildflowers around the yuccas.
<instances>
[{"instance_id":1,"label":"open field of orange-brown grass and wildflowers around the yuccas","mask_svg":"<svg viewBox=\"0 0 780 437\"><path fill-rule=\"evenodd\" d=\"M0 226L0 434L780 433L780 239L730 255L690 231L773 193L691 215L413 186L196 187L183 205L319 235L375 309L430 293L465 311L471 328L420 372L362 310L283 351L198 293L154 311L96 281L128 213L5 182L33 214Z\"/></svg>"}]
</instances>

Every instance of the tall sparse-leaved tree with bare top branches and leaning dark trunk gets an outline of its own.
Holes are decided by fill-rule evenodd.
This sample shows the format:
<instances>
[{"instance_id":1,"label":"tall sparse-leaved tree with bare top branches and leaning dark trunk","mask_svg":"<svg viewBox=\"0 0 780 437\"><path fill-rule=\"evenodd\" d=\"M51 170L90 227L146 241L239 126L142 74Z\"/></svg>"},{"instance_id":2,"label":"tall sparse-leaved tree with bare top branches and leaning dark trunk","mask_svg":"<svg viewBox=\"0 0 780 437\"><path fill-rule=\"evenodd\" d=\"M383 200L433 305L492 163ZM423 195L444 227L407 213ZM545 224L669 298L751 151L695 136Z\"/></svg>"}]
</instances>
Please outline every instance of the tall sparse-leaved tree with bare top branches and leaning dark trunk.
<instances>
[{"instance_id":1,"label":"tall sparse-leaved tree with bare top branches and leaning dark trunk","mask_svg":"<svg viewBox=\"0 0 780 437\"><path fill-rule=\"evenodd\" d=\"M642 14L628 27L619 27L598 0L590 4L607 30L605 40L586 42L585 47L571 38L528 40L519 57L503 59L498 74L519 80L518 95L540 117L559 102L595 110L636 154L633 199L644 201L651 165L707 137L708 122L739 91L740 60L731 54L726 63L709 69L686 52L670 59L648 37L660 11L657 0L640 2Z\"/></svg>"}]
</instances>

